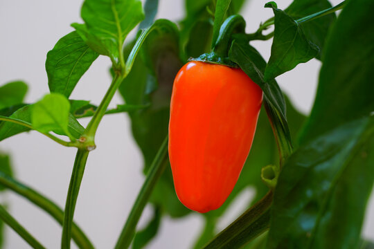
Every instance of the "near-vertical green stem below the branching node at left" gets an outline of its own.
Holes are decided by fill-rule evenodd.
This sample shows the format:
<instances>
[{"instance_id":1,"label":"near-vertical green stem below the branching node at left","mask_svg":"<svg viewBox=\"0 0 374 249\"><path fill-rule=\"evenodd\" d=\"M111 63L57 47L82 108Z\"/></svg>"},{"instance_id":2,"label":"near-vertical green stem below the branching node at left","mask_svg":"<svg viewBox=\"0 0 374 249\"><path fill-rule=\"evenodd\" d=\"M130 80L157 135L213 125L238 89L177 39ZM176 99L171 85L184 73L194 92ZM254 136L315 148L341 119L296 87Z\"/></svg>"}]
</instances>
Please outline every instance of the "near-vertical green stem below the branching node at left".
<instances>
[{"instance_id":1,"label":"near-vertical green stem below the branching node at left","mask_svg":"<svg viewBox=\"0 0 374 249\"><path fill-rule=\"evenodd\" d=\"M73 216L75 210L75 203L77 202L80 183L82 183L84 167L86 166L89 151L85 149L78 149L75 156L73 172L69 184L69 190L66 197L64 222L62 223L62 249L70 248L71 226L73 225Z\"/></svg>"}]
</instances>

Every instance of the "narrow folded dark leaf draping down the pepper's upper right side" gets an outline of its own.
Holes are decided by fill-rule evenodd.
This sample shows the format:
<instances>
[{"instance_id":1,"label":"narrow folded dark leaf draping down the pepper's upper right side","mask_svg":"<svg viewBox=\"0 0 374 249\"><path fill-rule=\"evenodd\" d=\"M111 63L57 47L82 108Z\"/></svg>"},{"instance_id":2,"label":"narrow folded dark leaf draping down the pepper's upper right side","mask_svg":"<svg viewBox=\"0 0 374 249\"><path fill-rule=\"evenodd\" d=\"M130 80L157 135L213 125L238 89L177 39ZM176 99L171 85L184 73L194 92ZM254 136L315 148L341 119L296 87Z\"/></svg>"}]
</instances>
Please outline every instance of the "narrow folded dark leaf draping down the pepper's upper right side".
<instances>
[{"instance_id":1,"label":"narrow folded dark leaf draping down the pepper's upper right side","mask_svg":"<svg viewBox=\"0 0 374 249\"><path fill-rule=\"evenodd\" d=\"M266 62L260 53L242 39L234 40L229 50L229 58L238 64L253 82L258 84L265 95L265 102L274 110L273 120L279 120L286 140L291 142L290 129L285 116L285 99L275 80L265 81L263 73Z\"/></svg>"}]
</instances>

